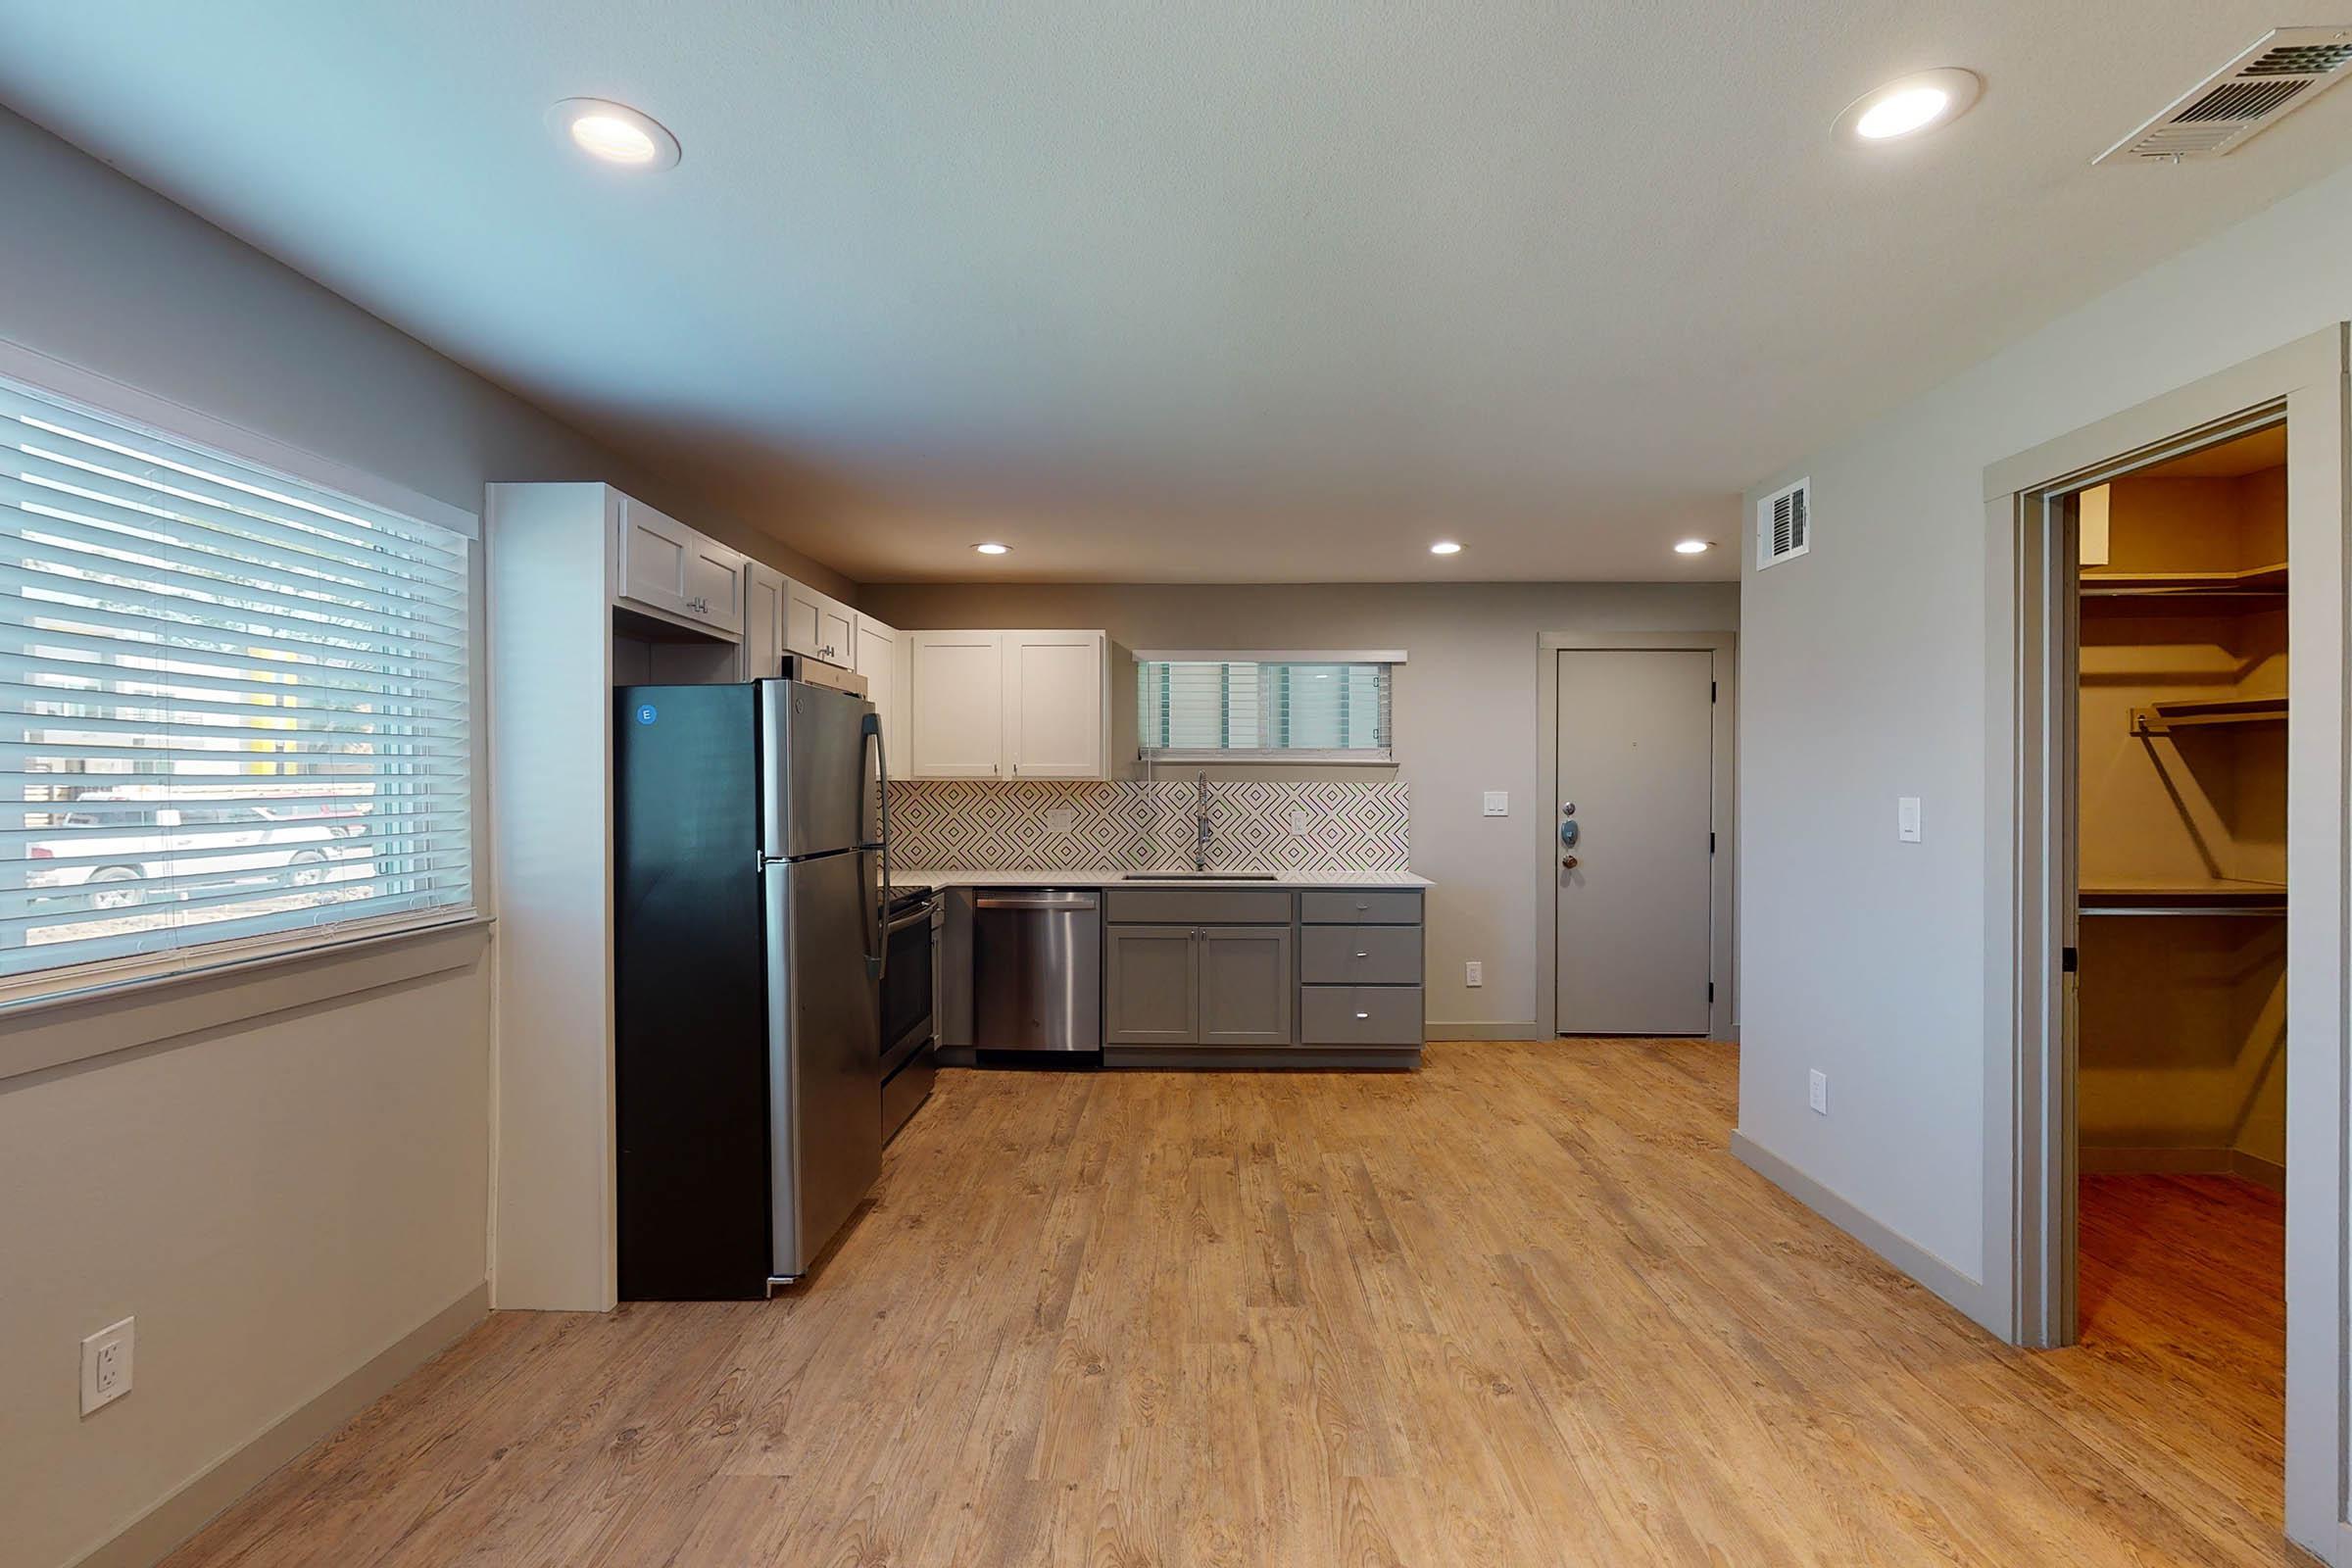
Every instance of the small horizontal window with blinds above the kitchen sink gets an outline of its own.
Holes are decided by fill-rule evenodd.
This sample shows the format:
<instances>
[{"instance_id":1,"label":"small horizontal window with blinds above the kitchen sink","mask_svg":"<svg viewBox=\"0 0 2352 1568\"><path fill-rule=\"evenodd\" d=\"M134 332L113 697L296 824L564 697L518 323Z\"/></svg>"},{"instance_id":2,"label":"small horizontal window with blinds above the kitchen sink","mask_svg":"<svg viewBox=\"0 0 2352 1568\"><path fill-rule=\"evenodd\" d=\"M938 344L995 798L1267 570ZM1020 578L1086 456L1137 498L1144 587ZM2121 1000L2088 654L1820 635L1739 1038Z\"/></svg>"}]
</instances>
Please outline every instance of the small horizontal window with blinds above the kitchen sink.
<instances>
[{"instance_id":1,"label":"small horizontal window with blinds above the kitchen sink","mask_svg":"<svg viewBox=\"0 0 2352 1568\"><path fill-rule=\"evenodd\" d=\"M1143 757L1390 762L1392 658L1136 656Z\"/></svg>"}]
</instances>

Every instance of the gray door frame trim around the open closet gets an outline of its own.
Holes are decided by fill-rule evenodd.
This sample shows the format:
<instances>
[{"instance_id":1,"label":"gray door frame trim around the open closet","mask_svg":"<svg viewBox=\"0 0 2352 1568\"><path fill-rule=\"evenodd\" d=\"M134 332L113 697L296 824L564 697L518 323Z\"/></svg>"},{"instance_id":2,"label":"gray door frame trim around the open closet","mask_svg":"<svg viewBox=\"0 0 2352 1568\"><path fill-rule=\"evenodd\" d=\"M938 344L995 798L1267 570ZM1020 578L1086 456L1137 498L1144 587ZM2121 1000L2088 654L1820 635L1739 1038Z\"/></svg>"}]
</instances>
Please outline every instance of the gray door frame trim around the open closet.
<instances>
[{"instance_id":1,"label":"gray door frame trim around the open closet","mask_svg":"<svg viewBox=\"0 0 2352 1568\"><path fill-rule=\"evenodd\" d=\"M2345 1262L2347 433L2345 324L2286 343L1985 470L1985 1305L2006 1338L2074 1335L2072 527L2063 496L2286 416L2288 463L2288 1126L2286 1533L2352 1566ZM1999 1326L1999 1324L1997 1324Z\"/></svg>"}]
</instances>

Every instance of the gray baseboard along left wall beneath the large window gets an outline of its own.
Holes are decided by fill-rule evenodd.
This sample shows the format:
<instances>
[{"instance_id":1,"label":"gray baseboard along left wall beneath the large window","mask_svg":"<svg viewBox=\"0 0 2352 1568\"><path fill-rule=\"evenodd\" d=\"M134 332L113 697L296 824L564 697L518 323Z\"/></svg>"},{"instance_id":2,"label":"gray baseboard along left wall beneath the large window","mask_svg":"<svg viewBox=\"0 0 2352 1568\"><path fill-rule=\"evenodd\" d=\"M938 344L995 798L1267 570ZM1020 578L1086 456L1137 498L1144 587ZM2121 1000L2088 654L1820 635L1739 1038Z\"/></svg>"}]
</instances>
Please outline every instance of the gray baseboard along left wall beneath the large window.
<instances>
[{"instance_id":1,"label":"gray baseboard along left wall beneath the large window","mask_svg":"<svg viewBox=\"0 0 2352 1568\"><path fill-rule=\"evenodd\" d=\"M176 1493L127 1523L113 1540L85 1552L73 1568L151 1568L179 1542L202 1530L221 1509L254 1490L303 1448L339 1432L395 1382L447 1349L489 1314L489 1281L466 1291L430 1319L400 1335L327 1392L280 1415L242 1448L198 1472Z\"/></svg>"}]
</instances>

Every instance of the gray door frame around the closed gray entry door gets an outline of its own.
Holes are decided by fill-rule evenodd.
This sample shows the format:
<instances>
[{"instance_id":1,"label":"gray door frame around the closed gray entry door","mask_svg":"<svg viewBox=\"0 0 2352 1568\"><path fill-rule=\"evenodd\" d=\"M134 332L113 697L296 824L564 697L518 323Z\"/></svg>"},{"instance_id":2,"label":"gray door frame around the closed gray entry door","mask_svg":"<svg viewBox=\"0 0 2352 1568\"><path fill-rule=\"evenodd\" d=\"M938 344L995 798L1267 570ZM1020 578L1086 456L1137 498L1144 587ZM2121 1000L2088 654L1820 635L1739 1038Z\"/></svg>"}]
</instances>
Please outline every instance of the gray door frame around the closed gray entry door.
<instances>
[{"instance_id":1,"label":"gray door frame around the closed gray entry door","mask_svg":"<svg viewBox=\"0 0 2352 1568\"><path fill-rule=\"evenodd\" d=\"M1738 952L1736 867L1738 867L1738 632L1543 632L1536 637L1536 736L1541 745L1543 809L1536 811L1538 879L1536 929L1541 945L1536 969L1536 1039L1559 1039L1559 879L1552 858L1559 853L1559 656L1595 651L1696 651L1712 654L1715 733L1710 755L1710 804L1715 813L1715 877L1708 893L1708 978L1715 1004L1708 1009L1708 1039L1738 1039Z\"/></svg>"}]
</instances>

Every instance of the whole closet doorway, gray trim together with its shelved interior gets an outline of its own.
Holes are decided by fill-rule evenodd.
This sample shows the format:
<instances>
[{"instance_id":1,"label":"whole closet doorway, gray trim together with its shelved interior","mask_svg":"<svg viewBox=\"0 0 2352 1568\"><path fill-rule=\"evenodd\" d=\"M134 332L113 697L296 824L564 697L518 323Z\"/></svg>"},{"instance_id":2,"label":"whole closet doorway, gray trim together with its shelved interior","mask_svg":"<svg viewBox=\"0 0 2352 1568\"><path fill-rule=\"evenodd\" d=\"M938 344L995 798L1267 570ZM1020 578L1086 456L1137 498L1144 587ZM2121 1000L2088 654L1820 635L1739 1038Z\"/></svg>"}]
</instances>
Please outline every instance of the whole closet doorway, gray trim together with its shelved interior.
<instances>
[{"instance_id":1,"label":"whole closet doorway, gray trim together with its shelved interior","mask_svg":"<svg viewBox=\"0 0 2352 1568\"><path fill-rule=\"evenodd\" d=\"M1985 564L1999 588L1985 670L1987 1248L1976 1298L1976 1316L2018 1345L2133 1335L2100 1359L2140 1368L2150 1408L2209 1434L2249 1507L2277 1507L2284 1458L2288 1540L2343 1563L2347 339L2331 324L1985 468ZM2117 531L2117 505L2161 498L2124 496L2119 482L2166 482L2178 496L2220 482L2253 505L2277 484L2260 477L2272 458L2284 458L2284 555L2270 552L2274 505L2223 510L2206 529L2216 550L2199 557L2159 552L2178 545L2178 527ZM2274 1011L2265 1020L2279 990L2284 1027ZM2209 1110L2232 1084L2237 1107ZM2286 1192L2267 1201L2272 1225L2284 1220L2284 1265L2260 1220L2272 1175L2260 1124L2281 1100ZM2117 1168L2159 1161L2169 1168ZM2244 1204L2159 1213L2129 1201L2161 1182L2197 1197L2206 1180L2241 1182L2225 1197ZM2086 1199L2091 1182L2110 1185ZM2279 1314L2284 1375L2267 1349ZM2060 1382L2065 1366L2051 1363Z\"/></svg>"}]
</instances>

